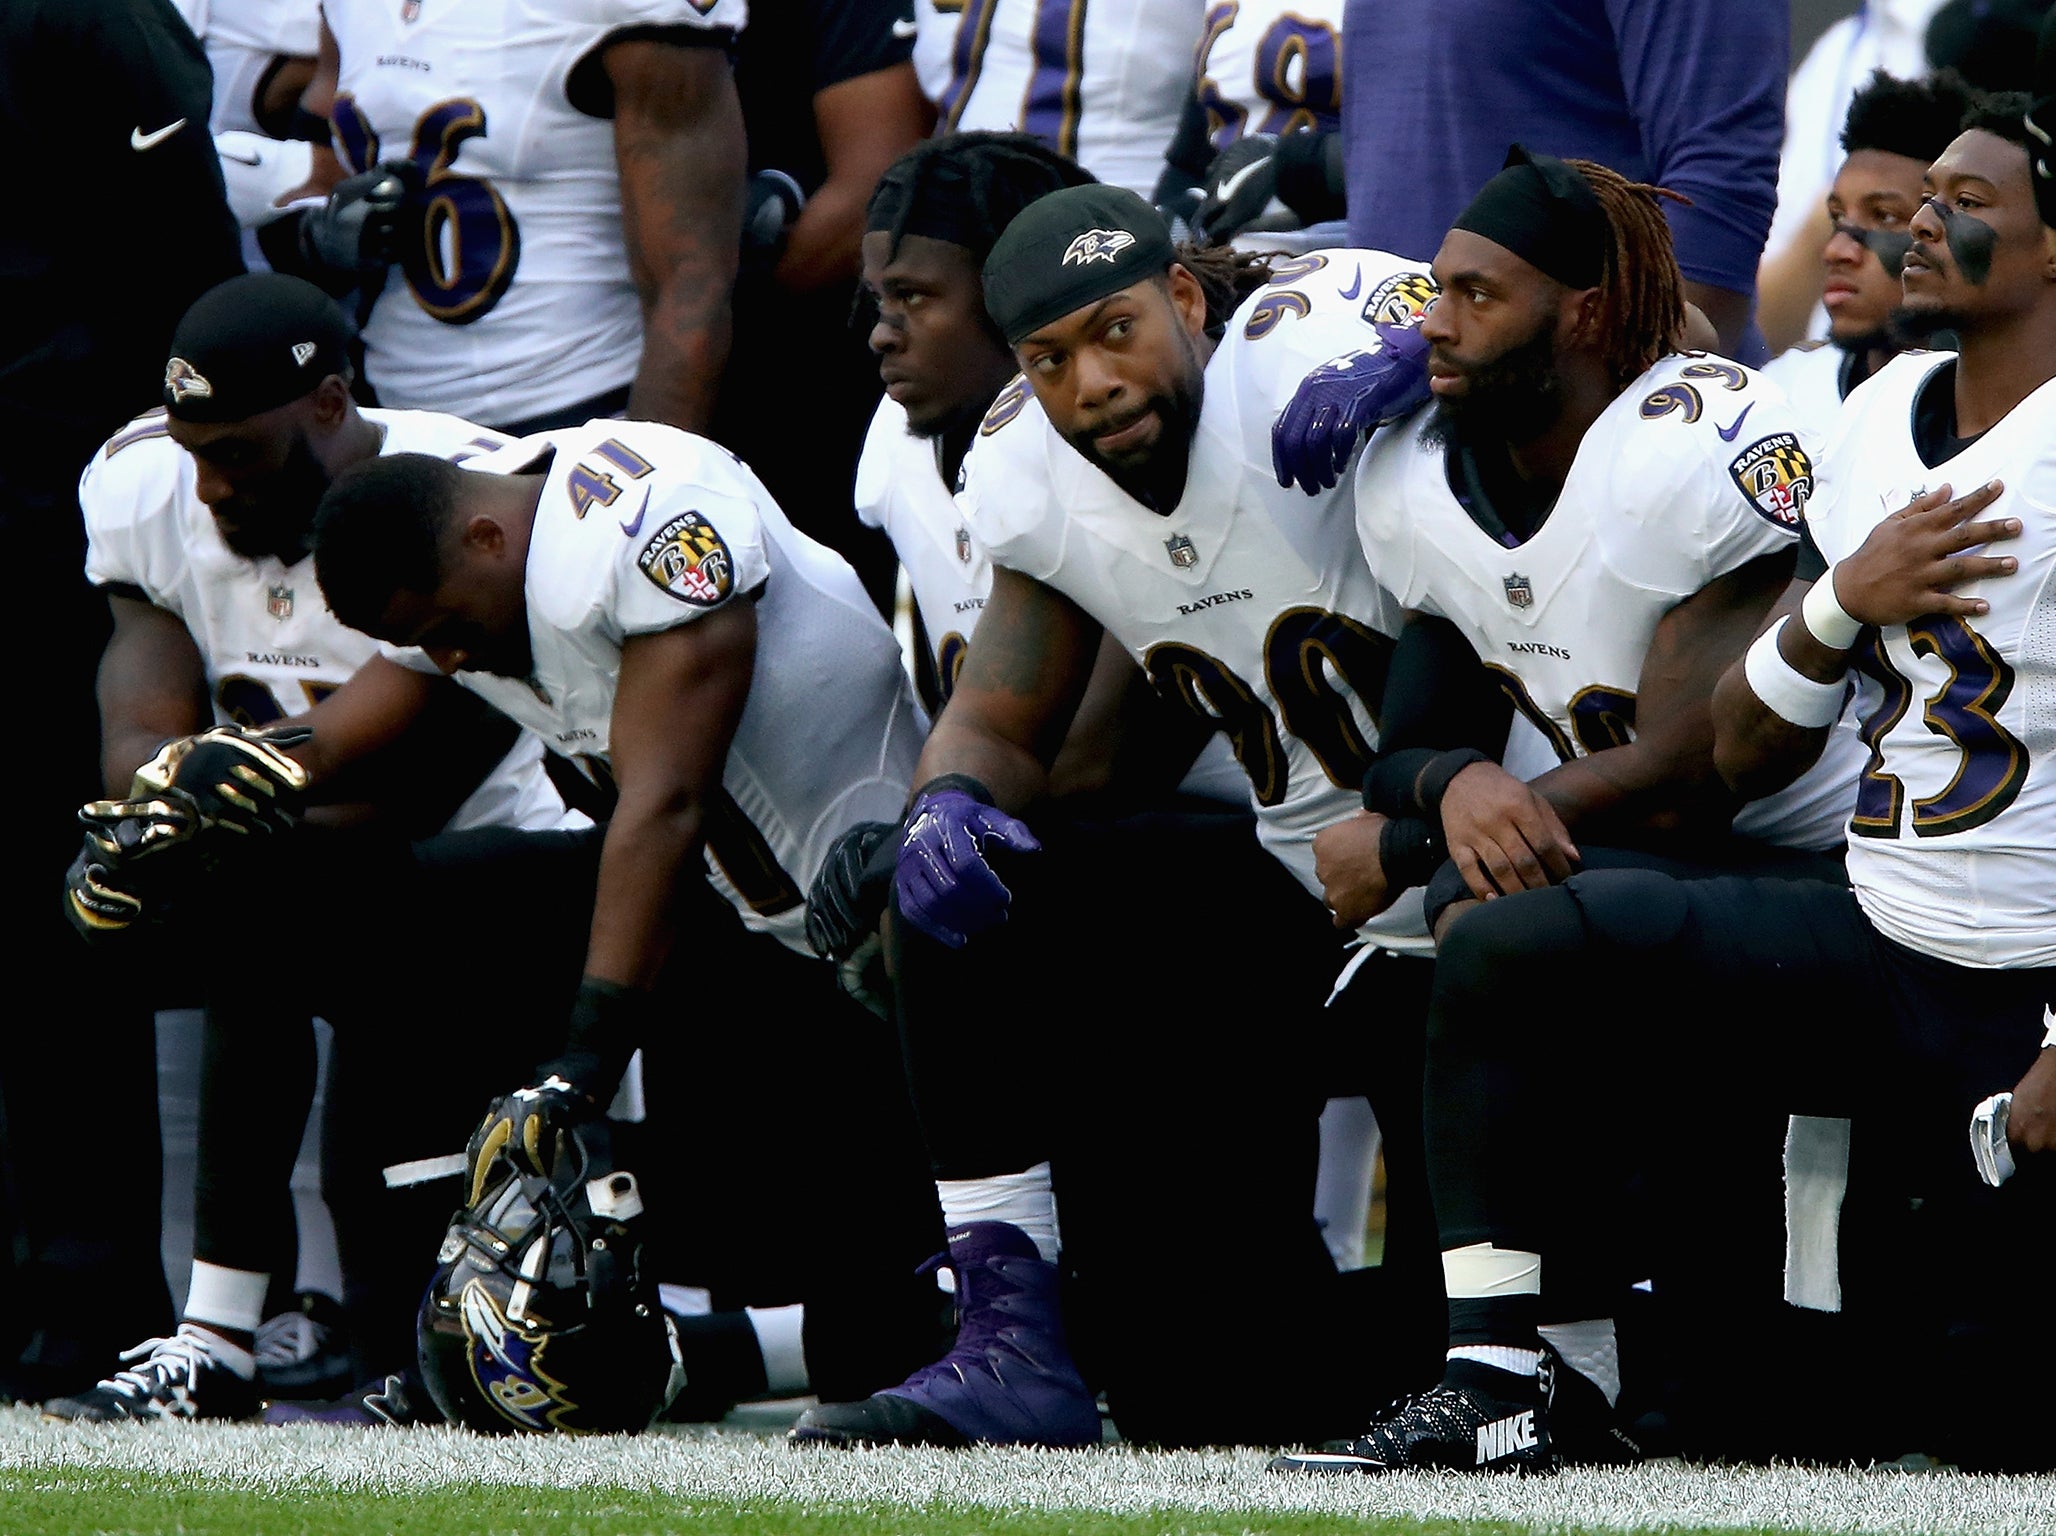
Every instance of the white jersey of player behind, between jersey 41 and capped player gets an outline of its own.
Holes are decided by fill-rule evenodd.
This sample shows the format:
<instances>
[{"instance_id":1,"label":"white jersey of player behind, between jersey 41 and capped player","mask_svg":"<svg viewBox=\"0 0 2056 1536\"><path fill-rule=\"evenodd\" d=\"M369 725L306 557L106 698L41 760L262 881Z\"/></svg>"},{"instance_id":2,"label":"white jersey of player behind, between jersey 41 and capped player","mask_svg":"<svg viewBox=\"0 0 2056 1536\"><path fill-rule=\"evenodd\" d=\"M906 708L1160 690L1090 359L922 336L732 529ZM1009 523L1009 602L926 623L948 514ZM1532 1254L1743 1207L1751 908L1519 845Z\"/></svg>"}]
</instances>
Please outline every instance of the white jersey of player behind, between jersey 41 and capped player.
<instances>
[{"instance_id":1,"label":"white jersey of player behind, between jersey 41 and capped player","mask_svg":"<svg viewBox=\"0 0 2056 1536\"><path fill-rule=\"evenodd\" d=\"M993 557L942 483L933 442L909 434L907 411L890 399L878 401L857 459L857 520L892 541L948 701L993 590ZM1178 788L1227 804L1248 796L1248 779L1223 736L1207 738Z\"/></svg>"}]
</instances>

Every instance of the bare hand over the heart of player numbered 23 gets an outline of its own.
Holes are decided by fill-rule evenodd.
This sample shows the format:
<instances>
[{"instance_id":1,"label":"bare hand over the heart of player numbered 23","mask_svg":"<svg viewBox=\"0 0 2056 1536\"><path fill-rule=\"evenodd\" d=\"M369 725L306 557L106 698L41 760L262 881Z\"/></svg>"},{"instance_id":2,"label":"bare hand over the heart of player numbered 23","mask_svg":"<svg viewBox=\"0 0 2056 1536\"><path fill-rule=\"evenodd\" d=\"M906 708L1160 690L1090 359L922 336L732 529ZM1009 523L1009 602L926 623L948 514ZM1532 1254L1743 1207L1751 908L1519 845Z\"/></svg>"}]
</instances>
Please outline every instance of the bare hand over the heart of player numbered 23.
<instances>
[{"instance_id":1,"label":"bare hand over the heart of player numbered 23","mask_svg":"<svg viewBox=\"0 0 2056 1536\"><path fill-rule=\"evenodd\" d=\"M1859 623L1887 625L1929 613L1976 617L1990 609L1984 598L1955 596L1955 588L2011 576L2019 565L2013 555L1970 553L2019 535L2019 518L1978 520L2003 489L1994 479L1951 500L1951 487L1937 485L1871 528L1863 547L1824 578L1834 582L1842 611Z\"/></svg>"}]
</instances>

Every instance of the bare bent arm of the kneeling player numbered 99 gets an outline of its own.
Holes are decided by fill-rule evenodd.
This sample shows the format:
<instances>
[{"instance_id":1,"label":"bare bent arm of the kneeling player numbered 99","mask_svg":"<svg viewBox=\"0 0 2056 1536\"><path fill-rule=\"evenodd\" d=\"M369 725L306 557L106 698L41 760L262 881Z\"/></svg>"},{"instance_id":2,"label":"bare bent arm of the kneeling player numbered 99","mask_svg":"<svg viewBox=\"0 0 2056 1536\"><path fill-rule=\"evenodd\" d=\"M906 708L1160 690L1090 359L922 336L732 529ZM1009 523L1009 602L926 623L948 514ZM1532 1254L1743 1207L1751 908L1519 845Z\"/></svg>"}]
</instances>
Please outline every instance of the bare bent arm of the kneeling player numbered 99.
<instances>
[{"instance_id":1,"label":"bare bent arm of the kneeling player numbered 99","mask_svg":"<svg viewBox=\"0 0 2056 1536\"><path fill-rule=\"evenodd\" d=\"M1733 798L1713 767L1713 693L1791 584L1795 555L1758 555L1663 615L1637 683L1635 740L1534 781L1567 827L1678 831L1733 816Z\"/></svg>"}]
</instances>

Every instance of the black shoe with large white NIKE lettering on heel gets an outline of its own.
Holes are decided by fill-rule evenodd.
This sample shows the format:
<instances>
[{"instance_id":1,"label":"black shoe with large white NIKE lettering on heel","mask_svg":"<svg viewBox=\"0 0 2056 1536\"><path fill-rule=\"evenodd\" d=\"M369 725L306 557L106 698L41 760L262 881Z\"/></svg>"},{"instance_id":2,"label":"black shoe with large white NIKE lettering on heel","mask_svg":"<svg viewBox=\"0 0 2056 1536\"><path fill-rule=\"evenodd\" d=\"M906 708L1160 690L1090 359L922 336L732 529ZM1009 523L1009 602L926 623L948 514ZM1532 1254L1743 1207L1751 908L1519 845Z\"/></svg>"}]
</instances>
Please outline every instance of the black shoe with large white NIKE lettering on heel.
<instances>
[{"instance_id":1,"label":"black shoe with large white NIKE lettering on heel","mask_svg":"<svg viewBox=\"0 0 2056 1536\"><path fill-rule=\"evenodd\" d=\"M1554 1472L1548 1409L1534 1378L1452 1361L1355 1439L1271 1458L1273 1472Z\"/></svg>"}]
</instances>

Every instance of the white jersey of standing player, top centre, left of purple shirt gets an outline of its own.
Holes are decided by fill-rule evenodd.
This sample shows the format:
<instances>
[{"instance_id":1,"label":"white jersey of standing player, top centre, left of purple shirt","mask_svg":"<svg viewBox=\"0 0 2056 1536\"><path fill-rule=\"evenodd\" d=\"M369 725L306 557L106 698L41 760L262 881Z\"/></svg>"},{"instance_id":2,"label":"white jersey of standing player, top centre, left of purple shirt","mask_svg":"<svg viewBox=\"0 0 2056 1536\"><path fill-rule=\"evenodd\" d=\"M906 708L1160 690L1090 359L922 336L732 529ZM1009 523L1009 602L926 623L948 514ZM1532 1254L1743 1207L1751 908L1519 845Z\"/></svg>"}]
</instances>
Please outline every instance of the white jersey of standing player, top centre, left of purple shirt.
<instances>
[{"instance_id":1,"label":"white jersey of standing player, top centre, left of purple shirt","mask_svg":"<svg viewBox=\"0 0 2056 1536\"><path fill-rule=\"evenodd\" d=\"M1192 95L1205 0L964 0L940 134L1020 130L1147 197Z\"/></svg>"}]
</instances>

